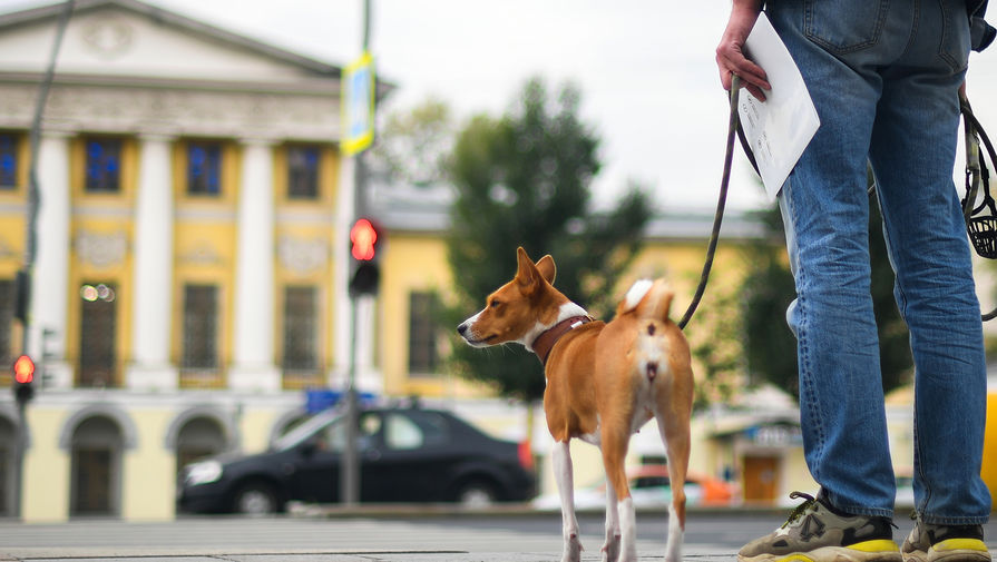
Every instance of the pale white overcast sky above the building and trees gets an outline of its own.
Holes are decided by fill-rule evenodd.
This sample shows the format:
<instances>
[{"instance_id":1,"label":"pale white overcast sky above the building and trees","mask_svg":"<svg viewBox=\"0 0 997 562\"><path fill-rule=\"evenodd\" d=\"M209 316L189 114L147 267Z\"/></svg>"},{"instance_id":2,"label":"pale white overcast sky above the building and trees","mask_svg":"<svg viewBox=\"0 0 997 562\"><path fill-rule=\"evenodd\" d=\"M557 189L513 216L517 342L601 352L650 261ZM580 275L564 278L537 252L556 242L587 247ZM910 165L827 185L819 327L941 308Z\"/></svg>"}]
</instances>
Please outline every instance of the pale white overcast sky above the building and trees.
<instances>
[{"instance_id":1,"label":"pale white overcast sky above the building and trees","mask_svg":"<svg viewBox=\"0 0 997 562\"><path fill-rule=\"evenodd\" d=\"M145 1L334 65L361 52L363 0ZM662 210L715 206L727 101L714 50L729 0L370 2L370 50L397 86L382 115L433 97L460 121L498 117L531 77L551 91L570 81L602 139L597 204L636 181ZM51 2L0 0L0 12L40 3ZM968 83L983 125L997 124L997 47L970 58ZM740 152L729 197L733 208L769 205Z\"/></svg>"}]
</instances>

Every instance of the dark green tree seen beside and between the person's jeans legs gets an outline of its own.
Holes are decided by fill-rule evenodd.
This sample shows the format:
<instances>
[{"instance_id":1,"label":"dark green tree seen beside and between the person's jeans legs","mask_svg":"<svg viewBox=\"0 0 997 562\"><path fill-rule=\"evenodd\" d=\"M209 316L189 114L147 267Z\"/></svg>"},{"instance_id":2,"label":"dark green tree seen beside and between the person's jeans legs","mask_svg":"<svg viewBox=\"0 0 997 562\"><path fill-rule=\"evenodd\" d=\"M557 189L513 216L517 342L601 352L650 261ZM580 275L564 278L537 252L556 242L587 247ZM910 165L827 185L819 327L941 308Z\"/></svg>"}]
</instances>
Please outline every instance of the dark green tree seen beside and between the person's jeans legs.
<instances>
[{"instance_id":1,"label":"dark green tree seen beside and between the person's jeans legs","mask_svg":"<svg viewBox=\"0 0 997 562\"><path fill-rule=\"evenodd\" d=\"M872 309L879 332L880 369L883 392L910 381L913 361L910 355L907 324L893 298L893 269L887 255L882 218L876 199L869 201L869 255L872 268ZM773 237L783 236L778 209L762 215ZM785 323L785 310L795 296L793 277L785 254L774 244L752 248L751 269L742 293L745 297L744 337L747 367L753 376L799 397L796 342ZM782 246L784 247L784 246Z\"/></svg>"}]
</instances>

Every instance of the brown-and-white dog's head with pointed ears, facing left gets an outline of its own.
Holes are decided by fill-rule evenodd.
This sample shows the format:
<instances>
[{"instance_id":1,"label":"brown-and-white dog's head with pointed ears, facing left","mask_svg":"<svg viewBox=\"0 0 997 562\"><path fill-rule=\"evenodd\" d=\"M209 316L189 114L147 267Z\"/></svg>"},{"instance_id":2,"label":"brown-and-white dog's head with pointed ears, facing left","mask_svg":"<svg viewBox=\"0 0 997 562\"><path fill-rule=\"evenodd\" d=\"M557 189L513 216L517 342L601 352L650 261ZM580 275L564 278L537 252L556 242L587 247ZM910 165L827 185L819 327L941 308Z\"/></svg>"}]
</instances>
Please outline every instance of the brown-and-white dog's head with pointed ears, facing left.
<instances>
[{"instance_id":1,"label":"brown-and-white dog's head with pointed ears, facing left","mask_svg":"<svg viewBox=\"0 0 997 562\"><path fill-rule=\"evenodd\" d=\"M457 327L475 347L508 342L529 346L538 325L549 324L557 316L558 304L554 299L559 293L551 286L557 273L554 258L548 255L534 263L521 247L516 254L519 263L516 277L488 295L485 309Z\"/></svg>"}]
</instances>

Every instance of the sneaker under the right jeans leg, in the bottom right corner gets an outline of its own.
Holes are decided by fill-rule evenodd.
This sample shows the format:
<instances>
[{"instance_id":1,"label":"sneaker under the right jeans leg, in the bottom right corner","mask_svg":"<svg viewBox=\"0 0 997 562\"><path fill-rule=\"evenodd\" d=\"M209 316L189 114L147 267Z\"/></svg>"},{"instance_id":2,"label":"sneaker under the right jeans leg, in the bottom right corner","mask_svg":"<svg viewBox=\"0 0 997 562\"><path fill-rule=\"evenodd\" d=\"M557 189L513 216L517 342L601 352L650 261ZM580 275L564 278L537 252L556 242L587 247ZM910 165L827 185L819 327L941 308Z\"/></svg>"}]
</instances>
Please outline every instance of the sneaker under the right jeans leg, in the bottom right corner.
<instances>
[{"instance_id":1,"label":"sneaker under the right jeans leg, in the bottom right corner","mask_svg":"<svg viewBox=\"0 0 997 562\"><path fill-rule=\"evenodd\" d=\"M903 562L990 562L983 525L917 524L900 549Z\"/></svg>"}]
</instances>

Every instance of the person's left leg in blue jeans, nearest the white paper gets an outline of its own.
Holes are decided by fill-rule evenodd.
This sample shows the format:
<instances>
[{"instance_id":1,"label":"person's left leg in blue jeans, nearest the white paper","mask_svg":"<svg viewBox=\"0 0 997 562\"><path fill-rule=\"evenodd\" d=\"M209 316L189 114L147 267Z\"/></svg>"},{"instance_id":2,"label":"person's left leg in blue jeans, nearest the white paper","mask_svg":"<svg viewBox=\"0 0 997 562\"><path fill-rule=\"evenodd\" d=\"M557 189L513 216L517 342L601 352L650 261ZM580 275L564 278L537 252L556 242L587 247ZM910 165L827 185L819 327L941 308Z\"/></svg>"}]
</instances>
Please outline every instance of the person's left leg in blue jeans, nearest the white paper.
<instances>
[{"instance_id":1,"label":"person's left leg in blue jeans, nearest the white paper","mask_svg":"<svg viewBox=\"0 0 997 562\"><path fill-rule=\"evenodd\" d=\"M896 481L870 293L866 164L881 82L867 62L902 51L891 29L870 24L892 21L897 9L843 0L769 7L821 119L780 196L796 282L788 317L807 462L833 507L887 517Z\"/></svg>"}]
</instances>

